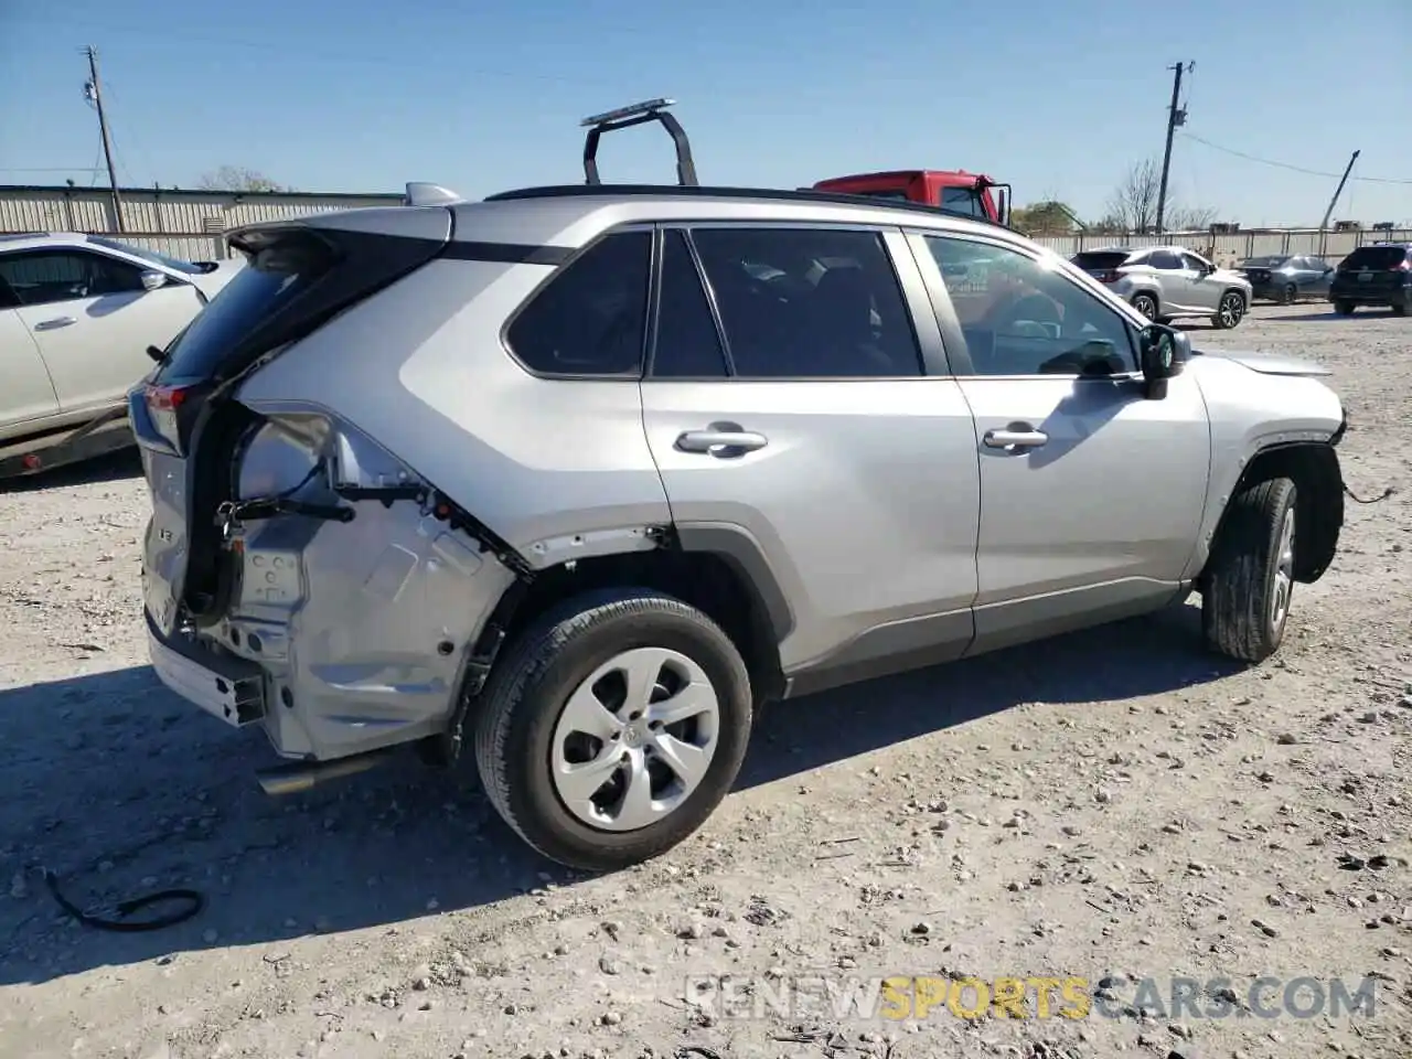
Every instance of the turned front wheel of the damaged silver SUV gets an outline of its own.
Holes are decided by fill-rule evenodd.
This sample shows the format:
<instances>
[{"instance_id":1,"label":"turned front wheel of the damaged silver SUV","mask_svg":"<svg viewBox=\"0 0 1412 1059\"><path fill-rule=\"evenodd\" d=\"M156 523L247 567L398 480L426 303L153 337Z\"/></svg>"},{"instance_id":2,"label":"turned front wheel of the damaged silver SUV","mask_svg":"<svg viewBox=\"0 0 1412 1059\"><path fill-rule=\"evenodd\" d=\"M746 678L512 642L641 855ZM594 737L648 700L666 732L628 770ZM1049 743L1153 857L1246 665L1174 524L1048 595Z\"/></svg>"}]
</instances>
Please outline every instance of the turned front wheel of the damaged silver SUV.
<instances>
[{"instance_id":1,"label":"turned front wheel of the damaged silver SUV","mask_svg":"<svg viewBox=\"0 0 1412 1059\"><path fill-rule=\"evenodd\" d=\"M1279 650L1295 589L1295 483L1247 486L1226 510L1202 578L1202 631L1230 658L1262 662Z\"/></svg>"}]
</instances>

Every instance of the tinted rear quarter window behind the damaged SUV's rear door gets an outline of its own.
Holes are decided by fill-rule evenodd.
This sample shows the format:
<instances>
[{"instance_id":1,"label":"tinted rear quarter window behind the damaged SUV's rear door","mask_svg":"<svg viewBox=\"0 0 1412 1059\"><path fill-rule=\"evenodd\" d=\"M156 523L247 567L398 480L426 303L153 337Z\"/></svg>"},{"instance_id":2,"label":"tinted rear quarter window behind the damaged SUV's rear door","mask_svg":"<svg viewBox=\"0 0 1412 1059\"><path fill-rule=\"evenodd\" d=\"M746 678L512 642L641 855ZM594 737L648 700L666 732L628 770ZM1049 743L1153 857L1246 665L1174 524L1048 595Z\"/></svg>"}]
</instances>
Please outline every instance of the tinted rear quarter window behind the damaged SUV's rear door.
<instances>
[{"instance_id":1,"label":"tinted rear quarter window behind the damaged SUV's rear door","mask_svg":"<svg viewBox=\"0 0 1412 1059\"><path fill-rule=\"evenodd\" d=\"M617 232L573 258L505 332L511 352L546 376L638 377L647 333L650 232Z\"/></svg>"}]
</instances>

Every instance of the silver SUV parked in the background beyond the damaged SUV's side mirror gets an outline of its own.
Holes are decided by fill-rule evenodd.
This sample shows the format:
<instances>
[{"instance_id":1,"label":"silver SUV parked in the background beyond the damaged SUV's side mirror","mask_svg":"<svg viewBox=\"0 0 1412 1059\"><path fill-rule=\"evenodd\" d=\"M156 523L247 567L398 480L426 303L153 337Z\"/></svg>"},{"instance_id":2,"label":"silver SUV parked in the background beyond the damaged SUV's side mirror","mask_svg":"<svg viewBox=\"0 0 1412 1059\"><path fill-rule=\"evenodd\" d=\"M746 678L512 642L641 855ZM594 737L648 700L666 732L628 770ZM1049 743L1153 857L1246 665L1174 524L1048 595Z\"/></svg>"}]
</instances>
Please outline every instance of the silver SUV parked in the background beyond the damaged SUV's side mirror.
<instances>
[{"instance_id":1,"label":"silver SUV parked in the background beyond the damaged SUV's side mirror","mask_svg":"<svg viewBox=\"0 0 1412 1059\"><path fill-rule=\"evenodd\" d=\"M1234 328L1250 309L1248 278L1186 247L1103 247L1072 261L1149 321L1206 316L1217 328Z\"/></svg>"}]
</instances>

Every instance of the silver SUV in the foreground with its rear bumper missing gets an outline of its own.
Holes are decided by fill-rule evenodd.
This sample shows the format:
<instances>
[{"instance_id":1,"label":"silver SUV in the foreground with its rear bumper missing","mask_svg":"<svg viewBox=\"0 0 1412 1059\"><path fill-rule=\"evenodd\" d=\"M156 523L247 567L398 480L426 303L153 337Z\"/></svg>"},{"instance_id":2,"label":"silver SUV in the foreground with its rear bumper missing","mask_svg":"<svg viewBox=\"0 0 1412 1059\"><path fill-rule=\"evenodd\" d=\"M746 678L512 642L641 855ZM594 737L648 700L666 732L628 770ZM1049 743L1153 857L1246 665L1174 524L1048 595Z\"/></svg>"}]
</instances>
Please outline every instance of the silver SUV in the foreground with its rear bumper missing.
<instances>
[{"instance_id":1,"label":"silver SUV in the foreground with its rear bumper missing","mask_svg":"<svg viewBox=\"0 0 1412 1059\"><path fill-rule=\"evenodd\" d=\"M152 664L294 760L268 791L466 737L535 849L620 867L712 813L764 702L1193 589L1255 662L1333 559L1322 370L1197 354L1008 229L690 184L408 203L237 232L131 394Z\"/></svg>"}]
</instances>

